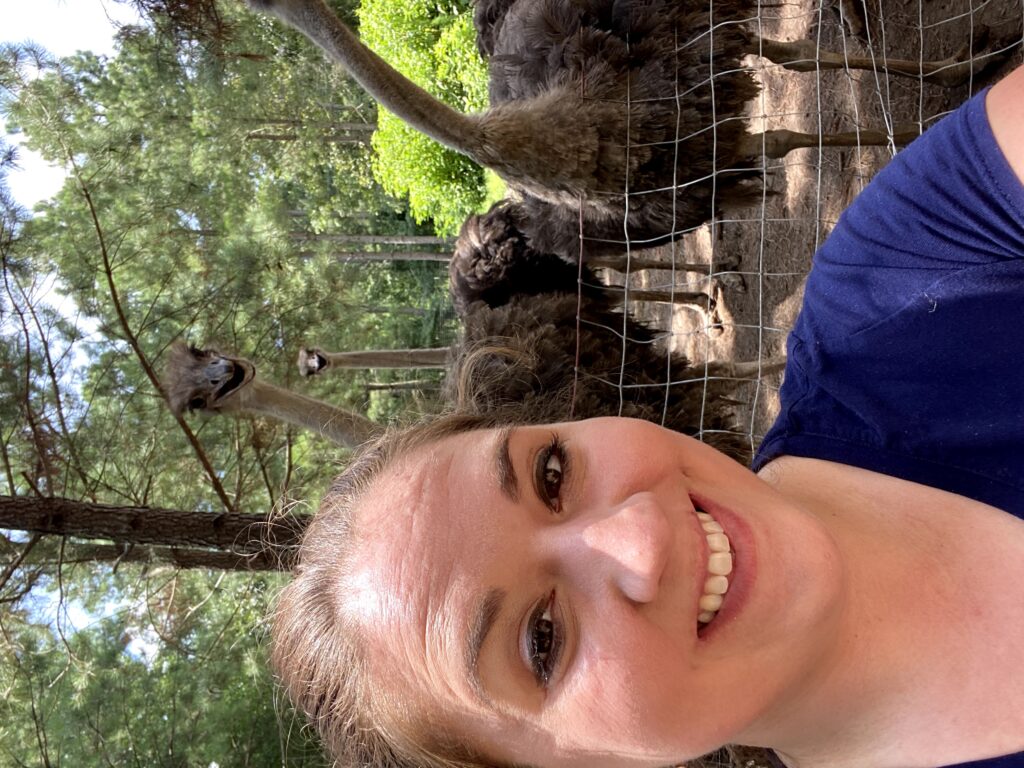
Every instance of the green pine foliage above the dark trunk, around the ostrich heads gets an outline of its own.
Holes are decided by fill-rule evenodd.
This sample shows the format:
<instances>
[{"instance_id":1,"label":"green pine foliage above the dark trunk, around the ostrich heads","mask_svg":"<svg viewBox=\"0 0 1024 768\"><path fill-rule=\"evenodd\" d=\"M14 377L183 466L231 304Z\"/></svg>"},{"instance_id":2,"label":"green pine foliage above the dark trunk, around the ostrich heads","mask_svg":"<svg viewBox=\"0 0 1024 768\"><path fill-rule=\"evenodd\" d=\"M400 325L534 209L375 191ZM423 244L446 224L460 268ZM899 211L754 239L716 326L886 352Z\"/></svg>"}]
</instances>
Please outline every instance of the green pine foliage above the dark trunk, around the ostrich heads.
<instances>
[{"instance_id":1,"label":"green pine foliage above the dark trunk, around the ostrich heads","mask_svg":"<svg viewBox=\"0 0 1024 768\"><path fill-rule=\"evenodd\" d=\"M4 106L10 123L45 157L74 157L78 168L44 204L45 215L26 223L17 258L39 273L56 272L77 306L104 329L89 348L86 412L69 428L82 461L99 463L69 475L84 487L60 493L91 496L113 475L115 501L221 506L201 476L180 481L195 474L194 452L154 397L126 334L158 372L171 341L184 336L249 356L262 378L288 385L297 378L301 344L419 345L426 315L389 307L426 311L443 301L441 280L425 292L400 264L334 259L334 232L415 231L401 207L367 177L366 142L330 140L339 110L357 123L353 118L372 109L351 84L325 79L330 68L315 52L296 46L306 57L273 55L290 49L291 33L253 14L237 22L234 45L245 56L190 50L182 57L142 30L111 60L87 53L44 60L38 76L8 61L5 81L19 83ZM417 268L443 274L436 263ZM309 389L365 412L369 375L326 377ZM240 509L266 509L283 484L292 495L315 497L336 469L322 459L325 452L303 453L305 442L282 425L217 420L195 428L214 466L227 468L224 483Z\"/></svg>"}]
</instances>

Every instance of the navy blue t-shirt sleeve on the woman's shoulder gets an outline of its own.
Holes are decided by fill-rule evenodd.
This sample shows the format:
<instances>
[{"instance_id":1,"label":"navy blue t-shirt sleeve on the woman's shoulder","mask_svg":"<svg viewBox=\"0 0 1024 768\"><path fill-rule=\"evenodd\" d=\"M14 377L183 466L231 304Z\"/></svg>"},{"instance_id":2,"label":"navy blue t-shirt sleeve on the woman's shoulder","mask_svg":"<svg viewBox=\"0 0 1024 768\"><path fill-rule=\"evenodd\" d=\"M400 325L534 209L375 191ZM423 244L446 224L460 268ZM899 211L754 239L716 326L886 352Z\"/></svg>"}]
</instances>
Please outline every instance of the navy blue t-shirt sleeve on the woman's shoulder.
<instances>
[{"instance_id":1,"label":"navy blue t-shirt sleeve on the woman's shoulder","mask_svg":"<svg viewBox=\"0 0 1024 768\"><path fill-rule=\"evenodd\" d=\"M1024 258L1024 185L992 134L982 91L879 173L814 257L804 318L845 336L951 271Z\"/></svg>"}]
</instances>

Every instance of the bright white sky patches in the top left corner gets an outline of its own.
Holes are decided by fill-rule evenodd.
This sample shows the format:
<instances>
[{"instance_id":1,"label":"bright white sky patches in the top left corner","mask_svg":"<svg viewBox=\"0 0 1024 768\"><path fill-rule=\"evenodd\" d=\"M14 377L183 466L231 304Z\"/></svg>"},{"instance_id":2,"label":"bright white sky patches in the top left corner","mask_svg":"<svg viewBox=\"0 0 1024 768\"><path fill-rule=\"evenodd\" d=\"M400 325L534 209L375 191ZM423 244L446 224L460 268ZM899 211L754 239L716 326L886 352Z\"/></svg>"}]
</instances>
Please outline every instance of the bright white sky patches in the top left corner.
<instances>
[{"instance_id":1,"label":"bright white sky patches in the top left corner","mask_svg":"<svg viewBox=\"0 0 1024 768\"><path fill-rule=\"evenodd\" d=\"M0 0L0 42L31 40L66 56L78 50L113 54L117 26L137 22L138 16L130 5L113 0ZM61 168L47 165L24 147L18 151L18 166L7 181L14 199L26 208L53 196L63 183Z\"/></svg>"}]
</instances>

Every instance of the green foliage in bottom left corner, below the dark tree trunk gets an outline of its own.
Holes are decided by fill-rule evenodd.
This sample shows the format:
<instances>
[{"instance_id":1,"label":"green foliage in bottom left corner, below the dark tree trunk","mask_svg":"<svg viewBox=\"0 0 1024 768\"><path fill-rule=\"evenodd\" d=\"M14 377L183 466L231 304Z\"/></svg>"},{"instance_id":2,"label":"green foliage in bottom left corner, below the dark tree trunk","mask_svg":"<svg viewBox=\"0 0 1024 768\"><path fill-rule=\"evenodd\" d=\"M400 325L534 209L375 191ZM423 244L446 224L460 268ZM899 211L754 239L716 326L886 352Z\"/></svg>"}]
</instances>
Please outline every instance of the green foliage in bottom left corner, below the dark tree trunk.
<instances>
[{"instance_id":1,"label":"green foliage in bottom left corner, below the dark tree trunk","mask_svg":"<svg viewBox=\"0 0 1024 768\"><path fill-rule=\"evenodd\" d=\"M279 579L66 568L73 617L39 602L2 622L4 765L326 764L275 706L262 614ZM84 587L117 599L85 612Z\"/></svg>"}]
</instances>

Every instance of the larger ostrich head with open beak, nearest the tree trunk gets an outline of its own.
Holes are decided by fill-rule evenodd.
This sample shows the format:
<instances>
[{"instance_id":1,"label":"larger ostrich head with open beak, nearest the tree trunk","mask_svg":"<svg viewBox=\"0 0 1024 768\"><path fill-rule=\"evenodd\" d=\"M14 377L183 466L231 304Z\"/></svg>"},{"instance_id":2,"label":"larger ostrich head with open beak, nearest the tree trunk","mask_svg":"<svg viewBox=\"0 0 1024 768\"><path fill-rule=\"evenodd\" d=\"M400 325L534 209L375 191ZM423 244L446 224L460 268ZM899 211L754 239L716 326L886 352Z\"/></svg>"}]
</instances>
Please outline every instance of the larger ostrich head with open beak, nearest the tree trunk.
<instances>
[{"instance_id":1,"label":"larger ostrich head with open beak, nearest the tree trunk","mask_svg":"<svg viewBox=\"0 0 1024 768\"><path fill-rule=\"evenodd\" d=\"M216 349L182 343L171 347L165 374L167 397L176 414L189 411L230 411L241 407L240 392L256 377L247 359L228 357Z\"/></svg>"}]
</instances>

